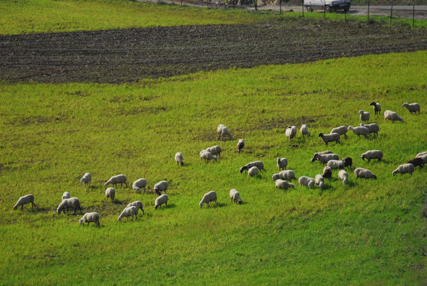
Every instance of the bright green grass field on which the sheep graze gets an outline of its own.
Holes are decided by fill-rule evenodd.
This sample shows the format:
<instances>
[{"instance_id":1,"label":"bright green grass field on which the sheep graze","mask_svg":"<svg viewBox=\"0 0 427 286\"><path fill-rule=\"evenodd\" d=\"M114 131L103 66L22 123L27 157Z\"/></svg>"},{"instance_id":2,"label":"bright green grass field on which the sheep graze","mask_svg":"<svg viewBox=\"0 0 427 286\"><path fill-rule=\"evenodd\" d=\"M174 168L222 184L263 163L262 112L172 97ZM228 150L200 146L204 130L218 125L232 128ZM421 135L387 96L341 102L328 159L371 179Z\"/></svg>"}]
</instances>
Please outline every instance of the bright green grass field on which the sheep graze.
<instances>
[{"instance_id":1,"label":"bright green grass field on which the sheep graze","mask_svg":"<svg viewBox=\"0 0 427 286\"><path fill-rule=\"evenodd\" d=\"M18 84L0 86L0 264L2 284L410 284L425 282L426 170L392 171L427 150L427 52L363 56L309 64L231 69L135 84ZM391 109L404 124L385 123L369 103ZM404 102L421 104L409 115ZM325 147L317 136L360 123L371 112L378 137L348 134ZM225 124L237 140L216 140ZM289 144L284 128L308 124L313 136ZM217 163L200 162L202 148L221 145ZM384 160L362 161L380 149ZM297 177L322 172L316 151L351 156L349 184L277 190L276 157ZM177 166L175 152L185 165ZM239 168L257 159L266 172L250 178ZM378 180L356 180L364 167ZM92 174L92 186L79 179ZM149 188L170 183L167 207L156 196L116 188L105 203L103 183L126 174ZM231 203L237 189L243 205ZM198 203L210 190L216 206ZM58 215L61 195L97 211L101 227ZM35 195L37 208L12 206ZM127 203L141 200L145 215L119 223ZM140 213L142 214L142 213Z\"/></svg>"}]
</instances>

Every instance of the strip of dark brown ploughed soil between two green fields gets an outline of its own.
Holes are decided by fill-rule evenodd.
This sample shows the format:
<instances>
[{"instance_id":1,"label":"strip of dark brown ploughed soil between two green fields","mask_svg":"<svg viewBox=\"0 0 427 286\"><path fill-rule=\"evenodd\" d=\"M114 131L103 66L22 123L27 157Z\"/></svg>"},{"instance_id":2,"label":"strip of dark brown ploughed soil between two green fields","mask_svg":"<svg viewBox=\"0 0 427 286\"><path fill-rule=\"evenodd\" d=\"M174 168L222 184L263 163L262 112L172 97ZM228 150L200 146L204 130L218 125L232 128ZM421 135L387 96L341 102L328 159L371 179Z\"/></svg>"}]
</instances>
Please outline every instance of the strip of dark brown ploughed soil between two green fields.
<instances>
[{"instance_id":1,"label":"strip of dark brown ploughed soil between two green fields","mask_svg":"<svg viewBox=\"0 0 427 286\"><path fill-rule=\"evenodd\" d=\"M7 82L122 83L221 68L427 50L427 29L282 18L0 37Z\"/></svg>"}]
</instances>

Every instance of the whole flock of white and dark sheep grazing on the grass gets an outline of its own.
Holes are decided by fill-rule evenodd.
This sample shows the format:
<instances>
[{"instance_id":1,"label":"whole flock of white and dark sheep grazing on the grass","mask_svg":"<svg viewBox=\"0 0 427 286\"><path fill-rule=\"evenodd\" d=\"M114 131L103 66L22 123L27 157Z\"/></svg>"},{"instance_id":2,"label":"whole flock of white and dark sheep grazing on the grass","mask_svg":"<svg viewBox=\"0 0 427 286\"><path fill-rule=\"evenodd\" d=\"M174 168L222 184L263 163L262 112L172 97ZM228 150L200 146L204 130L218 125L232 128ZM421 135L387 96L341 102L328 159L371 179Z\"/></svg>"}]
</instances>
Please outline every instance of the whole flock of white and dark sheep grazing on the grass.
<instances>
[{"instance_id":1,"label":"whole flock of white and dark sheep grazing on the grass","mask_svg":"<svg viewBox=\"0 0 427 286\"><path fill-rule=\"evenodd\" d=\"M371 106L374 106L374 112L375 115L380 114L381 112L381 106L377 102L372 102L370 104ZM406 107L408 111L412 114L414 114L418 111L420 112L420 105L418 103L404 103L402 105L403 107ZM352 126L340 126L337 128L333 128L329 134L323 134L319 133L319 137L322 138L323 142L325 142L326 145L328 145L328 142L337 142L339 143L339 140L341 136L344 136L344 138L347 138L347 131L351 130L353 133L357 136L363 135L366 138L368 138L368 135L371 133L374 133L378 135L379 126L378 124L372 123L372 124L366 124L366 122L369 121L370 115L369 112L364 112L363 110L359 111L359 118L362 121L360 126L358 127L352 127ZM384 112L384 119L386 122L391 120L393 123L394 121L401 121L404 122L403 118L401 118L396 112L392 112L390 110L386 110ZM302 136L311 136L310 132L308 131L308 127L306 124L303 124L300 128L300 132ZM233 136L231 136L230 131L227 127L220 124L217 128L218 133L218 139L224 139L224 137L228 137L229 139L233 139ZM286 137L292 142L292 139L295 138L297 133L297 127L296 126L288 126L285 130ZM240 152L243 152L245 148L245 141L243 139L240 139L237 142L237 153L240 154ZM206 163L208 163L210 160L217 161L217 157L221 156L222 149L218 145L213 147L208 147L205 150L200 151L200 160L205 160ZM371 159L378 159L381 160L383 158L383 152L380 150L368 150L365 153L361 154L360 158L363 160L367 159L368 162L371 161ZM337 154L332 153L332 151L323 151L323 152L317 152L314 153L314 156L312 159L310 159L310 162L319 161L323 165L326 164L325 168L323 168L322 174L317 174L314 178L310 178L307 176L301 176L298 178L298 184L299 186L307 186L309 189L314 187L315 185L319 186L320 189L325 188L325 179L332 177L332 170L339 169L338 172L338 179L342 180L343 184L348 183L348 173L344 170L347 167L351 167L353 165L353 160L351 157L345 157L343 159L339 159L339 156ZM175 162L178 165L183 166L183 155L182 153L178 152L175 154ZM392 175L395 174L406 174L409 173L412 175L412 173L415 171L415 167L419 166L420 168L423 168L424 164L427 163L427 151L418 153L415 158L410 159L406 164L399 165L397 169L395 169L392 172ZM286 170L286 167L288 165L288 160L286 158L277 158L276 159L276 165L279 169L279 172L277 174L272 175L272 180L275 181L276 189L288 189L292 188L295 189L294 184L289 183L287 181L295 180L295 172L292 170ZM248 175L253 177L258 174L260 170L266 171L264 169L264 164L262 161L254 161L250 162L243 167L240 168L240 173L243 173L243 171L247 171ZM366 179L377 179L377 176L373 174L371 171L364 169L364 168L356 168L354 169L354 175L357 178L366 178ZM91 174L85 173L83 177L80 179L80 183L86 185L91 184ZM114 197L116 190L114 189L114 186L117 187L117 184L120 184L120 187L123 186L123 184L127 187L126 183L127 179L126 176L123 174L113 176L111 177L107 182L105 182L104 186L107 187L108 185L112 185L113 187L109 187L105 190L105 198L108 201L108 199L111 200L111 202L114 202ZM147 180L144 178L138 179L135 182L132 183L132 189L135 190L135 192L141 192L141 189L143 192L146 192L146 185ZM161 207L161 205L166 205L168 202L167 197L167 187L168 182L167 181L160 181L156 183L153 186L153 192L158 195L158 198L155 200L154 207L157 209L158 207ZM164 192L162 195L161 192ZM230 199L231 202L236 202L238 204L242 204L242 199L240 198L239 192L237 192L236 189L230 190ZM202 200L199 203L200 208L203 207L204 204L209 206L211 202L216 203L216 192L211 191L203 195ZM31 206L36 206L34 203L34 196L33 195L25 195L23 197L20 197L18 202L13 207L14 210L16 210L19 206L21 207L21 211L23 209L23 205L31 203ZM61 212L68 211L68 209L73 209L74 214L76 214L76 211L79 209L80 213L82 214L82 209L80 206L80 201L78 198L70 198L69 192L64 192L64 194L61 197L61 203L59 204L58 208L56 209L58 214ZM121 214L118 217L118 221L122 221L122 218L126 217L129 219L131 217L131 220L133 220L133 217L135 216L135 219L137 218L137 214L139 209L142 210L144 214L144 209L142 202L137 200L135 202L129 203L121 212ZM87 212L85 215L83 215L82 218L79 219L79 224L84 224L87 222L88 224L90 222L95 223L99 227L99 214L97 212Z\"/></svg>"}]
</instances>

